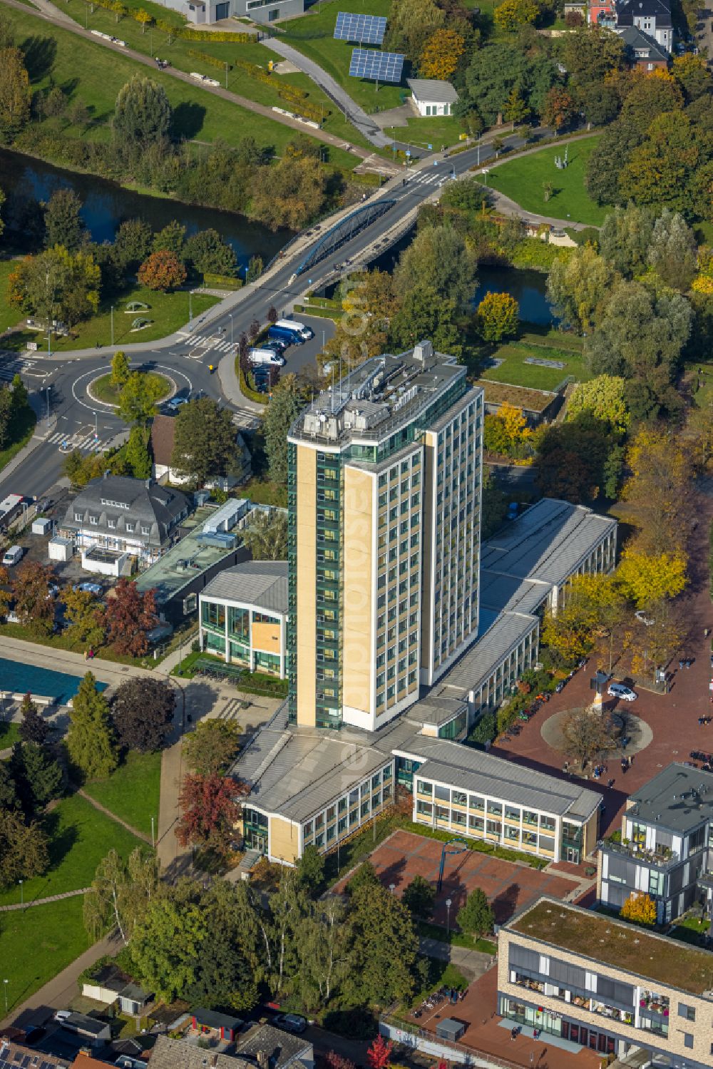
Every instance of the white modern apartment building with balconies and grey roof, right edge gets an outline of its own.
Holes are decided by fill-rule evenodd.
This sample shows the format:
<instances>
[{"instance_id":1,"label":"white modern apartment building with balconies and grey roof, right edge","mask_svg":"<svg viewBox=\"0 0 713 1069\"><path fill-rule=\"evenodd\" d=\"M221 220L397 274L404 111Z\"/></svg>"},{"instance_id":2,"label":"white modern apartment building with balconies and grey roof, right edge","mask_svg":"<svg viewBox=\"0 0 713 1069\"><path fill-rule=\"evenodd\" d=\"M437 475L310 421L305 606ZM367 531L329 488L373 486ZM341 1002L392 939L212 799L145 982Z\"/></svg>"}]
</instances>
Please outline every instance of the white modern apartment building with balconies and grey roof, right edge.
<instances>
[{"instance_id":1,"label":"white modern apartment building with balconies and grey roof, right edge","mask_svg":"<svg viewBox=\"0 0 713 1069\"><path fill-rule=\"evenodd\" d=\"M657 921L713 900L713 773L673 763L626 803L621 832L599 843L596 893L620 910L632 892L656 903Z\"/></svg>"}]
</instances>

